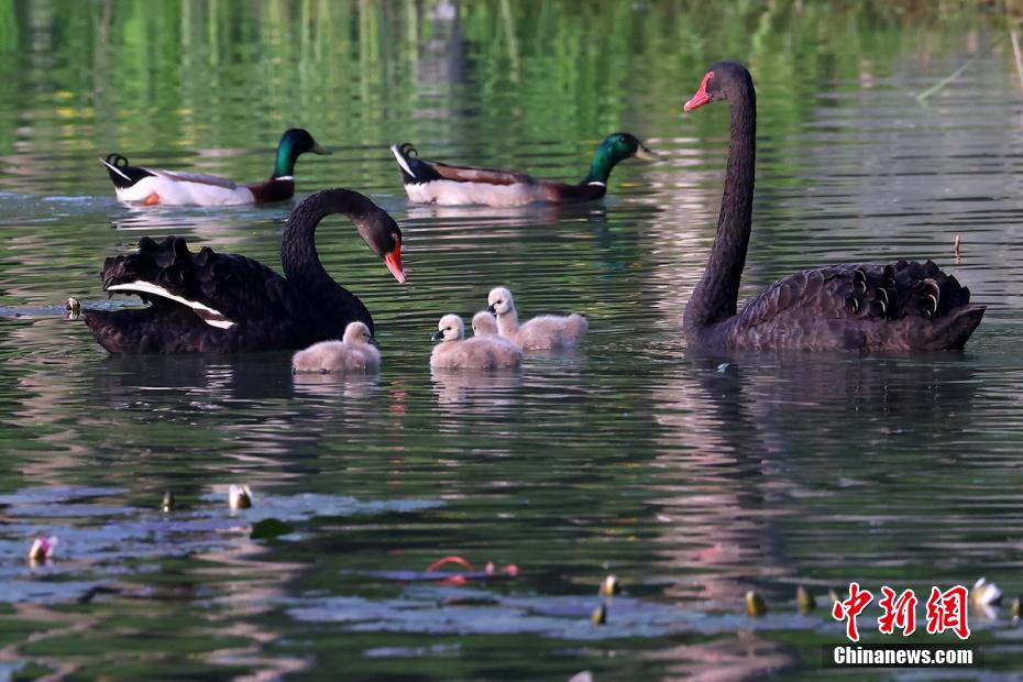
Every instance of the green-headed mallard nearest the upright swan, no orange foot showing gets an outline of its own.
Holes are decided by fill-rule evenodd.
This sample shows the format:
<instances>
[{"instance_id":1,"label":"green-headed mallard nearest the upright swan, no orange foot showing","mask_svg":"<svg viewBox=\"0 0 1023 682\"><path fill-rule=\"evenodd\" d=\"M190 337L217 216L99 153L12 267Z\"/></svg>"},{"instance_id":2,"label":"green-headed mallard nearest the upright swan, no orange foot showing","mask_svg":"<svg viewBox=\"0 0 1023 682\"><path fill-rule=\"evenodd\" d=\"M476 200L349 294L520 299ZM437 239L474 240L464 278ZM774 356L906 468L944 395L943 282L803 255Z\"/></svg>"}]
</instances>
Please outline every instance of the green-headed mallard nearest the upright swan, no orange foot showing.
<instances>
[{"instance_id":1,"label":"green-headed mallard nearest the upright swan, no orange foot showing","mask_svg":"<svg viewBox=\"0 0 1023 682\"><path fill-rule=\"evenodd\" d=\"M568 204L592 201L607 193L607 178L619 161L635 156L659 158L635 135L614 133L597 146L590 173L578 185L538 180L524 173L452 166L418 158L416 148L405 143L391 147L402 172L408 198L418 204L440 206L525 206L535 201Z\"/></svg>"}]
</instances>

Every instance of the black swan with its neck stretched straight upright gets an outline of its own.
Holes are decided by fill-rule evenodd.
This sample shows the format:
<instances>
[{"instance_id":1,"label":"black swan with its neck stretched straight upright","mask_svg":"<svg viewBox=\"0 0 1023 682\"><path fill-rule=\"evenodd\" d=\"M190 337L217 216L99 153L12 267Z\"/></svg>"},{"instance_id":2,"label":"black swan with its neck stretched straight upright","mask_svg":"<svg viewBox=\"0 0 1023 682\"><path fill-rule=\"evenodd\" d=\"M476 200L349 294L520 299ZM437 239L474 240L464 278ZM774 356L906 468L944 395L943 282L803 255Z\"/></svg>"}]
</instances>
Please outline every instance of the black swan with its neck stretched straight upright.
<instances>
[{"instance_id":1,"label":"black swan with its neck stretched straight upright","mask_svg":"<svg viewBox=\"0 0 1023 682\"><path fill-rule=\"evenodd\" d=\"M827 265L779 279L737 314L754 202L757 96L741 64L721 62L682 107L732 105L732 141L717 235L685 307L690 348L917 351L961 349L985 308L927 261Z\"/></svg>"}]
</instances>

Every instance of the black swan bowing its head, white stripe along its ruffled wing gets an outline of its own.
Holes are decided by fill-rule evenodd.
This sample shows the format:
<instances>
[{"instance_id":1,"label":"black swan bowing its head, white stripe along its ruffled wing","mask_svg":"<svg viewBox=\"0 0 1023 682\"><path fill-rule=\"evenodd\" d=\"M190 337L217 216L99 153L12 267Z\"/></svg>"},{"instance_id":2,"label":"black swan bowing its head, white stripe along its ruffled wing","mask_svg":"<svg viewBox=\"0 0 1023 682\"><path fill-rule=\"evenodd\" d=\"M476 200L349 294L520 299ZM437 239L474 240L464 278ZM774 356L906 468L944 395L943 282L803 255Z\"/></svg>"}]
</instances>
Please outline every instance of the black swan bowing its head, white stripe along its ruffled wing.
<instances>
[{"instance_id":1,"label":"black swan bowing its head, white stripe along its ruffled wing","mask_svg":"<svg viewBox=\"0 0 1023 682\"><path fill-rule=\"evenodd\" d=\"M386 211L358 191L324 189L299 204L280 243L287 279L262 263L185 240L147 237L139 252L107 258L103 288L135 294L147 308L85 314L99 344L111 353L229 353L294 350L338 339L349 322L373 318L354 294L320 264L316 227L331 213L355 223L366 245L405 284L402 230Z\"/></svg>"}]
</instances>

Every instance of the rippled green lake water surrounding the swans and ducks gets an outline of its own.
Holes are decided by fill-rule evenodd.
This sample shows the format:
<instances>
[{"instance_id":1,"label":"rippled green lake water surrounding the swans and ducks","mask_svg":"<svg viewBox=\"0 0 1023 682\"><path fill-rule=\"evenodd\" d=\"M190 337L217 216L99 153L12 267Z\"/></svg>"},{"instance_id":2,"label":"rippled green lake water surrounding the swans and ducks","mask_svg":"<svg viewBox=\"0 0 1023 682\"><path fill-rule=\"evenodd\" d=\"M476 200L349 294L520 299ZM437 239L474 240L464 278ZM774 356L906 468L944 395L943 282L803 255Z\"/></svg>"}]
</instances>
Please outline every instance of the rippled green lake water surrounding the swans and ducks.
<instances>
[{"instance_id":1,"label":"rippled green lake water surrounding the swans and ducks","mask_svg":"<svg viewBox=\"0 0 1023 682\"><path fill-rule=\"evenodd\" d=\"M0 679L814 679L844 641L828 588L1023 594L1005 18L711 4L0 0ZM749 65L760 103L744 297L817 264L930 257L988 305L965 352L685 352L728 110L680 105L721 58ZM99 270L143 235L279 266L290 205L125 208L97 156L255 180L292 125L334 151L302 157L300 195L355 188L404 227L404 288L344 220L319 233L376 319L378 377L293 378L287 353L114 358L65 319L69 295L124 305ZM615 130L666 160L564 209L409 206L386 148L578 179ZM585 344L431 374L438 318L497 284L527 316L585 314ZM255 504L231 514L241 483ZM30 566L40 535L57 557ZM449 554L520 572L425 580ZM623 594L594 625L608 573ZM799 584L822 607L800 615ZM865 640L891 641L878 613ZM970 623L967 676L1019 669L1008 605Z\"/></svg>"}]
</instances>

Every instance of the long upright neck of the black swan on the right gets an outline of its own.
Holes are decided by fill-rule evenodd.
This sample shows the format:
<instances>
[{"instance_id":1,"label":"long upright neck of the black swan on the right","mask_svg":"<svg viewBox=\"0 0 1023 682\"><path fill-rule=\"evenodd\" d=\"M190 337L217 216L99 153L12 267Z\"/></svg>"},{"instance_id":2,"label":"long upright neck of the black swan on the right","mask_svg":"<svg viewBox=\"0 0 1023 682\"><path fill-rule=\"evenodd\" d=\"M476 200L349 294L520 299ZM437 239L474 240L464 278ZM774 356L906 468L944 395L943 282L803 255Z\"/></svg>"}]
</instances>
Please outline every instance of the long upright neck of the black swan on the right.
<instances>
[{"instance_id":1,"label":"long upright neck of the black swan on the right","mask_svg":"<svg viewBox=\"0 0 1023 682\"><path fill-rule=\"evenodd\" d=\"M686 330L705 328L735 316L739 300L739 284L749 248L757 155L757 95L749 74L744 73L744 76L728 94L732 141L717 235L707 268L685 308L683 328Z\"/></svg>"}]
</instances>

